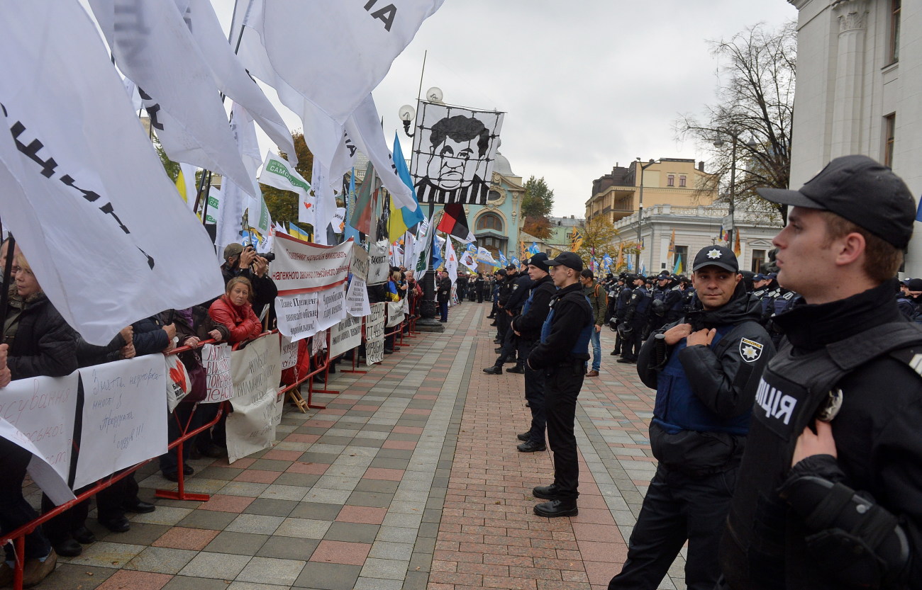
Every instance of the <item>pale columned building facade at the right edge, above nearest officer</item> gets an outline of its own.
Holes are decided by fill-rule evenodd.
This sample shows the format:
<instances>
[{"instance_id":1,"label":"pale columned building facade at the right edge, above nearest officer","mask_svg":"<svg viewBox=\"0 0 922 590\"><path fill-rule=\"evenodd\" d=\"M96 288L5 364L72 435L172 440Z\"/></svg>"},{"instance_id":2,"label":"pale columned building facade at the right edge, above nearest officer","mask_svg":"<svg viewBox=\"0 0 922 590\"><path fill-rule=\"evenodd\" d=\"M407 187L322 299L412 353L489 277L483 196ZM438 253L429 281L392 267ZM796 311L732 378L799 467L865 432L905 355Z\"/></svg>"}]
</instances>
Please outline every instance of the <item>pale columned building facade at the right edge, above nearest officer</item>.
<instances>
[{"instance_id":1,"label":"pale columned building facade at the right edge, above nearest officer","mask_svg":"<svg viewBox=\"0 0 922 590\"><path fill-rule=\"evenodd\" d=\"M798 8L791 188L831 159L864 154L922 192L922 3L789 0ZM873 198L869 195L869 198ZM906 274L922 275L922 237Z\"/></svg>"}]
</instances>

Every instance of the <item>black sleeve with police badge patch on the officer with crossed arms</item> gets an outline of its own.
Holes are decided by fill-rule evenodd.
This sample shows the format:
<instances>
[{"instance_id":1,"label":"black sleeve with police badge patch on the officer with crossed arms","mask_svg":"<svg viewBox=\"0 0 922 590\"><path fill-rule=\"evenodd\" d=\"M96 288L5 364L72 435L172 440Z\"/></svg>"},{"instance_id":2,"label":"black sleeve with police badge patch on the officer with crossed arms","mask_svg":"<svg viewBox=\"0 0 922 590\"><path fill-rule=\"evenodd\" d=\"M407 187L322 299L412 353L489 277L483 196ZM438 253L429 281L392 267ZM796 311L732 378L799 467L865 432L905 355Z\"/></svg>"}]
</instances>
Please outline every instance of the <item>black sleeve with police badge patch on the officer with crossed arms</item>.
<instances>
[{"instance_id":1,"label":"black sleeve with police badge patch on the officer with crossed arms","mask_svg":"<svg viewBox=\"0 0 922 590\"><path fill-rule=\"evenodd\" d=\"M691 390L721 418L734 418L751 409L762 370L774 356L774 346L768 333L755 323L752 326L753 330L746 331L745 335L727 334L733 341L728 343L719 358L714 348L703 345L689 346L679 353ZM743 357L740 338L762 345L754 360Z\"/></svg>"}]
</instances>

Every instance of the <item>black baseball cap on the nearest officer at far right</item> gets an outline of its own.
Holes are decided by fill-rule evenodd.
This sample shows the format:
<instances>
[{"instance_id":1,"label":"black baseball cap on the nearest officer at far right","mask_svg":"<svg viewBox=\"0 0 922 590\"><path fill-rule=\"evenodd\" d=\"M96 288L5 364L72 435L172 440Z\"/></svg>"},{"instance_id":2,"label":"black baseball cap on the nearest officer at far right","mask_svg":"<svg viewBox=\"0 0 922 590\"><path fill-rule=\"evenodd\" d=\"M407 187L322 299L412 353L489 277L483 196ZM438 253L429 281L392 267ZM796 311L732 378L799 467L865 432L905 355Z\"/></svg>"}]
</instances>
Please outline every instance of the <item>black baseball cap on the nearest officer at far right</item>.
<instances>
[{"instance_id":1,"label":"black baseball cap on the nearest officer at far right","mask_svg":"<svg viewBox=\"0 0 922 590\"><path fill-rule=\"evenodd\" d=\"M756 191L771 202L831 211L898 249L905 249L913 236L912 192L892 169L868 156L835 158L799 191Z\"/></svg>"}]
</instances>

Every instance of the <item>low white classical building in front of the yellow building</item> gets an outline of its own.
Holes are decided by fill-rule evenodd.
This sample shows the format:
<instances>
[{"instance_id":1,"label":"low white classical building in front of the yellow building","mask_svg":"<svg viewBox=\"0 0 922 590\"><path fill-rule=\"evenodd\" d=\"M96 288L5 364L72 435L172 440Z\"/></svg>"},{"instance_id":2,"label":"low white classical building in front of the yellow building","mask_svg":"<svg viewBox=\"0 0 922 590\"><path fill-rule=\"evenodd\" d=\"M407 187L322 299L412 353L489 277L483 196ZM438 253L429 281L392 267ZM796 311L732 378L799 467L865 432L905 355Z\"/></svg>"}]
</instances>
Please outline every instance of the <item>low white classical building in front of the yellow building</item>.
<instances>
[{"instance_id":1,"label":"low white classical building in front of the yellow building","mask_svg":"<svg viewBox=\"0 0 922 590\"><path fill-rule=\"evenodd\" d=\"M640 234L640 270L656 274L672 272L681 259L681 270L689 273L689 257L698 250L713 244L727 244L721 239L721 229L728 209L726 205L653 205L644 206L643 223L638 224L637 214L628 215L615 222L621 243L633 246ZM739 232L739 268L759 272L773 248L772 238L778 233L780 223L766 219L763 214L737 210L734 224ZM669 241L675 231L675 255L669 255ZM732 248L732 246L730 246ZM616 245L617 248L617 245ZM615 252L609 252L615 258ZM637 269L636 255L632 255L632 268Z\"/></svg>"}]
</instances>

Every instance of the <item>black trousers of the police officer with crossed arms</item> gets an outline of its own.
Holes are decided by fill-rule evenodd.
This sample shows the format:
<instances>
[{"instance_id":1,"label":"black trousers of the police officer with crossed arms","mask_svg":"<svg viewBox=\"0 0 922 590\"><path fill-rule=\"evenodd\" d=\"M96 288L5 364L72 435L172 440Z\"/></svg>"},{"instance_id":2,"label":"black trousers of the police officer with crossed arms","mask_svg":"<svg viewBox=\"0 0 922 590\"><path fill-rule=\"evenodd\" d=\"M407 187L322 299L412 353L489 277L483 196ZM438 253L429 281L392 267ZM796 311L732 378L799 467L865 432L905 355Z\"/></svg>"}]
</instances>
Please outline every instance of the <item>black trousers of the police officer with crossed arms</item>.
<instances>
[{"instance_id":1,"label":"black trousers of the police officer with crossed arms","mask_svg":"<svg viewBox=\"0 0 922 590\"><path fill-rule=\"evenodd\" d=\"M660 465L633 527L628 559L609 590L655 590L686 540L685 584L689 590L712 590L720 577L717 545L737 470L691 477Z\"/></svg>"}]
</instances>

